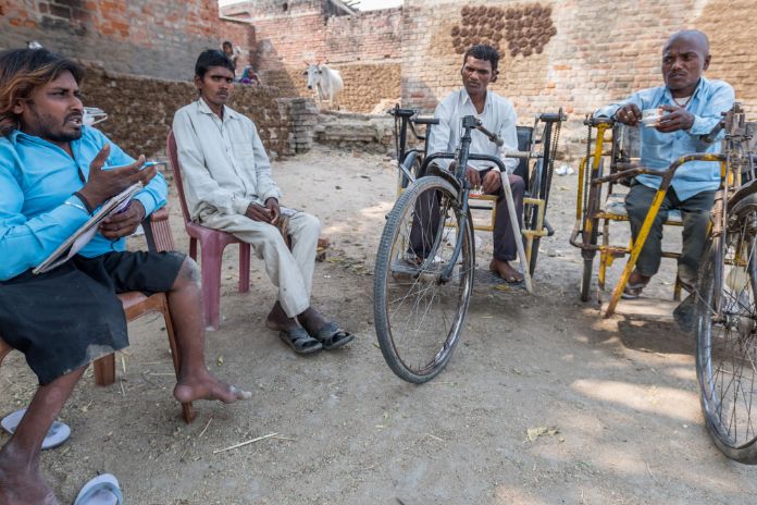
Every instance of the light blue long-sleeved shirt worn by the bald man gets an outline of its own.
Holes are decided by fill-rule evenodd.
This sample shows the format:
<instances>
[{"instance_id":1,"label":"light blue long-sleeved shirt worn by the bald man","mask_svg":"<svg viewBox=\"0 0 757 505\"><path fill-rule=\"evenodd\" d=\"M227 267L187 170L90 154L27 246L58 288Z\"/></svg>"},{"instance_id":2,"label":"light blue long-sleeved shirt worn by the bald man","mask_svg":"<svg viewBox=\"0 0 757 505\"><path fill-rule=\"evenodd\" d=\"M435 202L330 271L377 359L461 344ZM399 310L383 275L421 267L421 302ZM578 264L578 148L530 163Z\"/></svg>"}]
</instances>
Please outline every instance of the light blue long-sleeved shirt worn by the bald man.
<instances>
[{"instance_id":1,"label":"light blue long-sleeved shirt worn by the bald man","mask_svg":"<svg viewBox=\"0 0 757 505\"><path fill-rule=\"evenodd\" d=\"M686 104L686 110L694 114L694 124L690 130L660 133L657 128L640 124L642 139L642 165L665 171L670 163L684 155L694 152L720 152L720 141L705 144L702 135L707 135L718 124L721 112L733 106L735 95L730 84L722 81L699 78L699 83ZM623 106L634 103L641 110L656 109L660 106L678 107L667 86L642 89L620 103L599 109L596 115L611 116ZM722 132L721 132L722 137ZM638 175L636 180L653 188L660 187L660 177ZM697 193L715 190L720 184L720 165L717 162L690 161L675 171L672 187L682 200Z\"/></svg>"}]
</instances>

